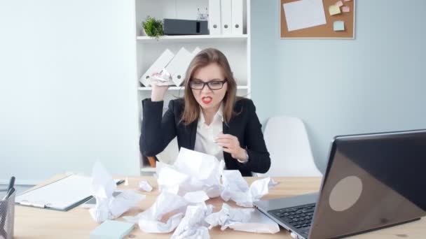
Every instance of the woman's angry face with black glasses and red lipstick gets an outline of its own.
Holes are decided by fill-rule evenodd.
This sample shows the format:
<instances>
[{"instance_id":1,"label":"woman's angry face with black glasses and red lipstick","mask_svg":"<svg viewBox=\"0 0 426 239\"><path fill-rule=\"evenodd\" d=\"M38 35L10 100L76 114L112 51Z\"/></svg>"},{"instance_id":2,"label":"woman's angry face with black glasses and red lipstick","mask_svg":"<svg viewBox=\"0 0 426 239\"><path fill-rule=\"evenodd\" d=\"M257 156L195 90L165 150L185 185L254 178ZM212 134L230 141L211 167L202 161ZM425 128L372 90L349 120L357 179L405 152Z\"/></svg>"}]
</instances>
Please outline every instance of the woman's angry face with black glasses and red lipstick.
<instances>
[{"instance_id":1,"label":"woman's angry face with black glasses and red lipstick","mask_svg":"<svg viewBox=\"0 0 426 239\"><path fill-rule=\"evenodd\" d=\"M214 88L210 89L209 85L204 85L204 88L202 89L192 89L194 98L201 106L201 108L219 108L222 100L225 97L226 91L228 90L228 84L226 82L221 87L221 89L215 89L221 86L220 81L225 80L221 66L216 63L212 63L205 67L198 68L196 71L194 71L191 80L193 81L193 87L200 88L202 87L202 82L210 82L211 87Z\"/></svg>"}]
</instances>

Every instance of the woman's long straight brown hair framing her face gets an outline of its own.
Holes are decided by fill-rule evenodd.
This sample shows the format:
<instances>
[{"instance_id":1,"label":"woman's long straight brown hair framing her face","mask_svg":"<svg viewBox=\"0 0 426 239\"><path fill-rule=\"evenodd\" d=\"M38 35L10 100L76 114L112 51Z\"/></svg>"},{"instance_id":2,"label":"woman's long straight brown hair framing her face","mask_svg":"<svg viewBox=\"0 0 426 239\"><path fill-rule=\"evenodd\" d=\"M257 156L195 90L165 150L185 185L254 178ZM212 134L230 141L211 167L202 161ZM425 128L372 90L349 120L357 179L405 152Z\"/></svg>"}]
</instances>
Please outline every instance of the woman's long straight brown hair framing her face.
<instances>
[{"instance_id":1,"label":"woman's long straight brown hair framing her face","mask_svg":"<svg viewBox=\"0 0 426 239\"><path fill-rule=\"evenodd\" d=\"M224 121L226 124L229 123L231 117L235 115L234 104L237 99L237 82L233 77L231 67L229 66L228 59L226 59L224 53L214 48L207 48L198 52L198 54L192 59L191 63L186 70L186 76L184 81L185 86L185 108L184 113L181 115L181 122L184 122L184 125L191 124L200 116L200 106L195 100L191 87L189 87L189 81L193 77L193 73L198 69L205 67L209 64L216 63L221 66L222 71L225 75L226 84L228 84L228 89L224 99L222 100L224 104Z\"/></svg>"}]
</instances>

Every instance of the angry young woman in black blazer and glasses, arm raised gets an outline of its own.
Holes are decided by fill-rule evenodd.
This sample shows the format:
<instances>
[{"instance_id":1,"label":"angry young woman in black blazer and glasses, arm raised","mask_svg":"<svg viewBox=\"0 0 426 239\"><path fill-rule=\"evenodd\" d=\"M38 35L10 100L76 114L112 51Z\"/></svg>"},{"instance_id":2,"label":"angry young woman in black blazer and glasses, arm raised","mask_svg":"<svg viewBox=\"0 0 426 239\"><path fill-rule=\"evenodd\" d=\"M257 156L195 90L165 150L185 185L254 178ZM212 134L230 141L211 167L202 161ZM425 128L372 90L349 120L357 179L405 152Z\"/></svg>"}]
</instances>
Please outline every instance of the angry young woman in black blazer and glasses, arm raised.
<instances>
[{"instance_id":1,"label":"angry young woman in black blazer and glasses, arm raised","mask_svg":"<svg viewBox=\"0 0 426 239\"><path fill-rule=\"evenodd\" d=\"M225 160L226 169L243 176L266 173L270 158L251 100L236 96L237 84L225 55L207 48L186 71L183 99L170 101L163 115L167 86L153 85L144 99L139 146L144 156L162 152L177 136L180 147Z\"/></svg>"}]
</instances>

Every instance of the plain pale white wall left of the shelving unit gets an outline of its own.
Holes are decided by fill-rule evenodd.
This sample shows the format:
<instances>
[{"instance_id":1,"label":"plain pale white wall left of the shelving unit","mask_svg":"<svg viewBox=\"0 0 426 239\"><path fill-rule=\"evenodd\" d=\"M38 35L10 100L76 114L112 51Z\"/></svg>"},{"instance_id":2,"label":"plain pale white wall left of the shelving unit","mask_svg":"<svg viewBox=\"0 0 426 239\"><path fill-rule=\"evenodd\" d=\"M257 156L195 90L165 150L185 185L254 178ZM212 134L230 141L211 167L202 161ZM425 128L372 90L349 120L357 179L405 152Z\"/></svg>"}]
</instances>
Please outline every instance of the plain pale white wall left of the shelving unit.
<instances>
[{"instance_id":1,"label":"plain pale white wall left of the shelving unit","mask_svg":"<svg viewBox=\"0 0 426 239\"><path fill-rule=\"evenodd\" d=\"M0 1L0 182L139 171L134 1Z\"/></svg>"}]
</instances>

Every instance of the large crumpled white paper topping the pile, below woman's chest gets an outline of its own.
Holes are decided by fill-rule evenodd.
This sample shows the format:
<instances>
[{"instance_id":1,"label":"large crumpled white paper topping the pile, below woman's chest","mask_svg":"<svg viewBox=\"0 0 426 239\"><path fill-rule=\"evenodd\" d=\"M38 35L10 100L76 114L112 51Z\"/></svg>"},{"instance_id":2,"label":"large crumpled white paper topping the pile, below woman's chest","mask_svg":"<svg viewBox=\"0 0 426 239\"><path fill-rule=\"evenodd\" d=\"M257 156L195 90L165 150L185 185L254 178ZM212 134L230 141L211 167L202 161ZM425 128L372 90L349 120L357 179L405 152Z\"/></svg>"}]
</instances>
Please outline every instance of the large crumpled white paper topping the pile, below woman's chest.
<instances>
[{"instance_id":1,"label":"large crumpled white paper topping the pile, below woman's chest","mask_svg":"<svg viewBox=\"0 0 426 239\"><path fill-rule=\"evenodd\" d=\"M224 161L181 147L173 165L157 163L156 177L160 191L183 196L189 191L205 191L209 198L221 194Z\"/></svg>"}]
</instances>

